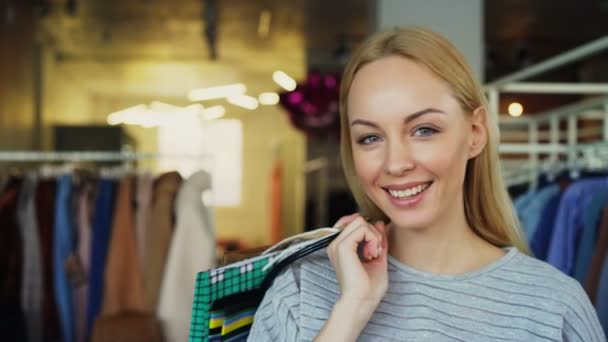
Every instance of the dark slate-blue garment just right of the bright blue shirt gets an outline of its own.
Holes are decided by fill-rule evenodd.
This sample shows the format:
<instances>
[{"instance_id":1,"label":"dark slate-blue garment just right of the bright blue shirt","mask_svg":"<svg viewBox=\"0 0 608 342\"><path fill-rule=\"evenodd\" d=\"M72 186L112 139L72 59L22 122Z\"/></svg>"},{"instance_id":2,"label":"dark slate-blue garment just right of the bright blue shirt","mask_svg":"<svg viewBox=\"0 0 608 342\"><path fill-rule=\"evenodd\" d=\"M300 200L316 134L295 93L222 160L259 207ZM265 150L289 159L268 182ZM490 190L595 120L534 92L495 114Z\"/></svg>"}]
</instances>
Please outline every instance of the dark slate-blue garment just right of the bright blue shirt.
<instances>
[{"instance_id":1,"label":"dark slate-blue garment just right of the bright blue shirt","mask_svg":"<svg viewBox=\"0 0 608 342\"><path fill-rule=\"evenodd\" d=\"M606 206L608 206L608 190L603 190L592 196L584 211L583 231L578 242L574 264L574 278L581 284L584 284L589 272L591 257L598 237L597 227L600 224L602 211Z\"/></svg>"}]
</instances>

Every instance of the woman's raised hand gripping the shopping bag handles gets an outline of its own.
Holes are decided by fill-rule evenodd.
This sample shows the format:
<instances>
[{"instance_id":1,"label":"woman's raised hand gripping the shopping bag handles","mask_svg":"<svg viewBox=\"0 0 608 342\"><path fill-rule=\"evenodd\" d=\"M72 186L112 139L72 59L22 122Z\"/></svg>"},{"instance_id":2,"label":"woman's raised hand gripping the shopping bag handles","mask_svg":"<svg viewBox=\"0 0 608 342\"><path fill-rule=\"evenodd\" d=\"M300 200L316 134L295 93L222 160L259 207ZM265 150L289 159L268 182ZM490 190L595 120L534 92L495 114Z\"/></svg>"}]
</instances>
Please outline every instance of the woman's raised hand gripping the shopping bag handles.
<instances>
[{"instance_id":1,"label":"woman's raised hand gripping the shopping bag handles","mask_svg":"<svg viewBox=\"0 0 608 342\"><path fill-rule=\"evenodd\" d=\"M341 218L335 227L342 232L327 254L340 284L339 301L371 316L388 288L386 227L381 221L371 224L359 214Z\"/></svg>"}]
</instances>

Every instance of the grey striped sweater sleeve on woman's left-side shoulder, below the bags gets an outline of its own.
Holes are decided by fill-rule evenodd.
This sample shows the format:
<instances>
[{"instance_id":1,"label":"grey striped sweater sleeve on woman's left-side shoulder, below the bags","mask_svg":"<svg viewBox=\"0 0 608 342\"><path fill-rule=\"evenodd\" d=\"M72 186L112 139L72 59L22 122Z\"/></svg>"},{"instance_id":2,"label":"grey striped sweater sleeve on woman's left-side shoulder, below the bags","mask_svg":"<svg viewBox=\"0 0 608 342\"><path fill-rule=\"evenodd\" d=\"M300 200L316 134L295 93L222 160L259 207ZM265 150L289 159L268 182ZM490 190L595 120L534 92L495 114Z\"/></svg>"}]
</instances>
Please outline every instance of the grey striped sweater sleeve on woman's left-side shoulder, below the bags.
<instances>
[{"instance_id":1,"label":"grey striped sweater sleeve on woman's left-side shoulder, below the bags","mask_svg":"<svg viewBox=\"0 0 608 342\"><path fill-rule=\"evenodd\" d=\"M294 266L281 273L266 291L253 318L248 341L299 340L300 284Z\"/></svg>"}]
</instances>

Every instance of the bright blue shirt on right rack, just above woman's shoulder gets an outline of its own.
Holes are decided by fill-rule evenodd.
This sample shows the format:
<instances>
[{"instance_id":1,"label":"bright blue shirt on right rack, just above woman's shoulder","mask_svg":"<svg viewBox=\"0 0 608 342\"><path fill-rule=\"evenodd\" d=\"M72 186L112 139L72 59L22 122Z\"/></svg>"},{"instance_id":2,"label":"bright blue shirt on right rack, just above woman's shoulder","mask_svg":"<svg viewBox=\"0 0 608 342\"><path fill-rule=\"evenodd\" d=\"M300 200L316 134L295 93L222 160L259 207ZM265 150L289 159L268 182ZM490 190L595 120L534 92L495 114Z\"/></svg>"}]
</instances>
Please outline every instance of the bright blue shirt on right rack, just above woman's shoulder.
<instances>
[{"instance_id":1,"label":"bright blue shirt on right rack, just above woman's shoulder","mask_svg":"<svg viewBox=\"0 0 608 342\"><path fill-rule=\"evenodd\" d=\"M608 188L608 179L583 179L564 192L557 211L555 227L549 243L547 262L572 275L578 238L583 230L584 209L593 195Z\"/></svg>"}]
</instances>

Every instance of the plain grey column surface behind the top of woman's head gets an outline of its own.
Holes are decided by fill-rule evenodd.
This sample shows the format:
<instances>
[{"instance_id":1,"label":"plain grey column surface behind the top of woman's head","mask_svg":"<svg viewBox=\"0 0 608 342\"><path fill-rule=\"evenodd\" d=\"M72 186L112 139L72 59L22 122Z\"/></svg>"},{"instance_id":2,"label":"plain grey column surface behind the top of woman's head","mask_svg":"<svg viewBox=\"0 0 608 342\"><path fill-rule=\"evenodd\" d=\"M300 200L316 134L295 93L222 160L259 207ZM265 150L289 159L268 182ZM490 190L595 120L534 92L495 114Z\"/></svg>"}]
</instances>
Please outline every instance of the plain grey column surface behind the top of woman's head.
<instances>
[{"instance_id":1,"label":"plain grey column surface behind the top of woman's head","mask_svg":"<svg viewBox=\"0 0 608 342\"><path fill-rule=\"evenodd\" d=\"M376 30L410 25L446 36L484 81L482 0L377 0Z\"/></svg>"}]
</instances>

